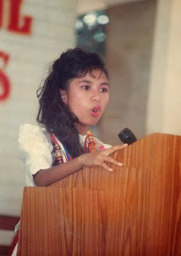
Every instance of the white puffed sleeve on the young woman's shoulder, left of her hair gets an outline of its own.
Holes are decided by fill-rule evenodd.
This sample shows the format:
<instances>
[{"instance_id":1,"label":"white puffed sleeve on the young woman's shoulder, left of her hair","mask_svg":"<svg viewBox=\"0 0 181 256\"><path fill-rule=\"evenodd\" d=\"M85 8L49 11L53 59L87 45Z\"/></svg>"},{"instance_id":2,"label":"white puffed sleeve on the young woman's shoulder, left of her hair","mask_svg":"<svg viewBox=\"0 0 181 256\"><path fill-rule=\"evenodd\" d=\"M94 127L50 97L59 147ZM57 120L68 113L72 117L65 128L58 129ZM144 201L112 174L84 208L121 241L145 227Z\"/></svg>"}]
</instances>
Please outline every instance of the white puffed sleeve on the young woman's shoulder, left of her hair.
<instances>
[{"instance_id":1,"label":"white puffed sleeve on the young woman's shoulder, left of her hair","mask_svg":"<svg viewBox=\"0 0 181 256\"><path fill-rule=\"evenodd\" d=\"M20 158L26 166L27 186L34 186L33 174L52 166L53 146L44 130L30 124L20 126L18 143Z\"/></svg>"}]
</instances>

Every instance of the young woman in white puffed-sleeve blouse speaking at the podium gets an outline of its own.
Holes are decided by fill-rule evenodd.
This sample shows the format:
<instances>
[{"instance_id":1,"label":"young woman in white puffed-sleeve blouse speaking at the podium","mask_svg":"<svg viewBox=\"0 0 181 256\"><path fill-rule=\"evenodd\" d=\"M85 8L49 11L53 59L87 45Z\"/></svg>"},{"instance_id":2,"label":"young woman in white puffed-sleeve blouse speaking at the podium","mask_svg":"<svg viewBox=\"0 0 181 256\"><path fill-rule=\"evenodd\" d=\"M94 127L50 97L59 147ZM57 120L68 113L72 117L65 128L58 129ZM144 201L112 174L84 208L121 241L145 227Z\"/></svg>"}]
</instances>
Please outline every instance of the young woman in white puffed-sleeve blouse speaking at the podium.
<instances>
[{"instance_id":1,"label":"young woman in white puffed-sleeve blouse speaking at the podium","mask_svg":"<svg viewBox=\"0 0 181 256\"><path fill-rule=\"evenodd\" d=\"M89 131L109 100L108 72L97 54L79 48L61 54L37 95L41 126L23 125L19 134L28 186L49 186L85 166L122 166L109 154L126 145L110 147Z\"/></svg>"}]
</instances>

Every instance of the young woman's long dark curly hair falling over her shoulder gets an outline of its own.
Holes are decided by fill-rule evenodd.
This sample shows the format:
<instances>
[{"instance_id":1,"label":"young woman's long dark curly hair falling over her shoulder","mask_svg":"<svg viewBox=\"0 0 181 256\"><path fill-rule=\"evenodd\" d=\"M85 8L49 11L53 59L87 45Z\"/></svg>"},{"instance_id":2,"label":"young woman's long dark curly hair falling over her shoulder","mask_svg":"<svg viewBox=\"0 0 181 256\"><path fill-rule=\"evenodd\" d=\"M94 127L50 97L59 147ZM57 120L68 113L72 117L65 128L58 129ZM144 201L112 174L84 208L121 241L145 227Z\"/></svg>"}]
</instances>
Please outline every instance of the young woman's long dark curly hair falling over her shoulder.
<instances>
[{"instance_id":1,"label":"young woman's long dark curly hair falling over her shoulder","mask_svg":"<svg viewBox=\"0 0 181 256\"><path fill-rule=\"evenodd\" d=\"M83 149L76 129L77 117L61 99L60 90L67 91L72 78L82 78L92 70L102 70L108 77L103 60L98 54L80 48L69 49L57 58L49 70L44 85L37 90L39 110L37 122L45 126L66 146L73 158L81 155Z\"/></svg>"}]
</instances>

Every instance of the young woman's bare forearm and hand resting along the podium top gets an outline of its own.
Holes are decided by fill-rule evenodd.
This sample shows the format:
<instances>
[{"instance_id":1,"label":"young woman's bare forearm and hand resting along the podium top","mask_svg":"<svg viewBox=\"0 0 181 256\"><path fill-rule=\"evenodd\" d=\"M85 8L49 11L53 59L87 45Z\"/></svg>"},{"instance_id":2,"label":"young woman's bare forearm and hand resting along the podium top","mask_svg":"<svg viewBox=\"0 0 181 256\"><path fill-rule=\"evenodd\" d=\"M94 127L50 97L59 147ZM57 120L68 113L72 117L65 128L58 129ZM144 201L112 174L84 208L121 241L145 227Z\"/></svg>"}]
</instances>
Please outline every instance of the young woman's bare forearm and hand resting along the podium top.
<instances>
[{"instance_id":1,"label":"young woman's bare forearm and hand resting along the podium top","mask_svg":"<svg viewBox=\"0 0 181 256\"><path fill-rule=\"evenodd\" d=\"M54 182L60 181L62 178L74 174L84 166L102 166L105 170L112 171L112 168L110 168L105 162L111 162L116 166L122 166L122 163L117 162L114 158L110 157L109 154L114 153L116 150L121 150L125 146L128 145L112 146L107 150L82 154L69 162L65 162L48 169L39 170L33 175L33 180L37 186L49 186Z\"/></svg>"}]
</instances>

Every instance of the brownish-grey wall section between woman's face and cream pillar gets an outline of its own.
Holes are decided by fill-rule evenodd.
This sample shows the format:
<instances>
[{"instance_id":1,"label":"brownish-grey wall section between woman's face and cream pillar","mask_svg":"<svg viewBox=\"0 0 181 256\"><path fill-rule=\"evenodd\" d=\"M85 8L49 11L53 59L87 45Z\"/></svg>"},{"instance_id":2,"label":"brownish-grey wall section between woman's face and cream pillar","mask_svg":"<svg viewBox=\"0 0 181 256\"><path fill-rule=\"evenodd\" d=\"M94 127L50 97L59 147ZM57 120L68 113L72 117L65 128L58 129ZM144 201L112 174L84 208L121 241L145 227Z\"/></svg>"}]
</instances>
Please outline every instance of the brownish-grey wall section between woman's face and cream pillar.
<instances>
[{"instance_id":1,"label":"brownish-grey wall section between woman's face and cream pillar","mask_svg":"<svg viewBox=\"0 0 181 256\"><path fill-rule=\"evenodd\" d=\"M100 139L120 143L117 134L128 127L137 138L145 136L155 0L108 9L105 59L111 99L100 122Z\"/></svg>"}]
</instances>

